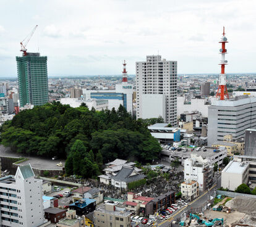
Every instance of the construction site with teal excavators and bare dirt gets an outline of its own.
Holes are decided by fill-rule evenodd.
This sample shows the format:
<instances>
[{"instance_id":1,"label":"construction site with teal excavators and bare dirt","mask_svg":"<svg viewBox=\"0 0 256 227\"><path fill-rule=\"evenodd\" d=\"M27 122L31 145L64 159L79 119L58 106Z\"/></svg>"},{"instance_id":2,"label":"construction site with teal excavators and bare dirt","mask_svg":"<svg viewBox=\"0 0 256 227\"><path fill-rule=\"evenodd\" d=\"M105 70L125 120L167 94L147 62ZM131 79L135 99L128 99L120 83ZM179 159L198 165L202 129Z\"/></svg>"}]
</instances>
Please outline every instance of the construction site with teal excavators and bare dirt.
<instances>
[{"instance_id":1,"label":"construction site with teal excavators and bare dirt","mask_svg":"<svg viewBox=\"0 0 256 227\"><path fill-rule=\"evenodd\" d=\"M190 213L179 226L256 226L256 199L224 197L203 213Z\"/></svg>"}]
</instances>

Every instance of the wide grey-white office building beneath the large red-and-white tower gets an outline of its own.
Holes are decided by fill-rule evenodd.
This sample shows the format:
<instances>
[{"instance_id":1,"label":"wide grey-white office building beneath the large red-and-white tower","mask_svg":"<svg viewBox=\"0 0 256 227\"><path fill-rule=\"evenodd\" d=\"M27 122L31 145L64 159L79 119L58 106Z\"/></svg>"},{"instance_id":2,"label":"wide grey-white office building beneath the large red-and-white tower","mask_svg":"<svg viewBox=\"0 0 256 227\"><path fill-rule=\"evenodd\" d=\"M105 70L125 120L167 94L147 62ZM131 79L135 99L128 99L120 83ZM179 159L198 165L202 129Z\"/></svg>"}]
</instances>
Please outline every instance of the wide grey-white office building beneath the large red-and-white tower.
<instances>
[{"instance_id":1,"label":"wide grey-white office building beneath the large red-and-white tower","mask_svg":"<svg viewBox=\"0 0 256 227\"><path fill-rule=\"evenodd\" d=\"M248 128L256 128L256 97L215 100L208 107L208 146L223 141L227 134L242 138Z\"/></svg>"}]
</instances>

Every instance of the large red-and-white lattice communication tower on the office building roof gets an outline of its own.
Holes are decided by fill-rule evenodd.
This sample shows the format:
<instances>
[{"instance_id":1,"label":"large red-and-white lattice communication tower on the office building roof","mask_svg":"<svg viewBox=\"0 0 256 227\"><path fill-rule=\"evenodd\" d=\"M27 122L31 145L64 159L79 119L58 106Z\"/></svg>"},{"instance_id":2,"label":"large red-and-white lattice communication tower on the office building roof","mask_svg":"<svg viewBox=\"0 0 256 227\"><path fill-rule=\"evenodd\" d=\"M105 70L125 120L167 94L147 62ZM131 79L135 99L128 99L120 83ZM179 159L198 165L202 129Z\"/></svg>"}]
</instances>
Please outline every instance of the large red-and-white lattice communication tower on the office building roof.
<instances>
[{"instance_id":1,"label":"large red-and-white lattice communication tower on the office building roof","mask_svg":"<svg viewBox=\"0 0 256 227\"><path fill-rule=\"evenodd\" d=\"M216 97L220 96L220 100L229 99L228 97L228 89L226 86L226 74L225 74L225 65L228 65L228 60L225 60L225 55L227 54L227 49L225 47L225 44L228 43L228 39L225 36L225 28L223 27L223 36L221 37L221 74L219 77L219 88L216 94Z\"/></svg>"}]
</instances>

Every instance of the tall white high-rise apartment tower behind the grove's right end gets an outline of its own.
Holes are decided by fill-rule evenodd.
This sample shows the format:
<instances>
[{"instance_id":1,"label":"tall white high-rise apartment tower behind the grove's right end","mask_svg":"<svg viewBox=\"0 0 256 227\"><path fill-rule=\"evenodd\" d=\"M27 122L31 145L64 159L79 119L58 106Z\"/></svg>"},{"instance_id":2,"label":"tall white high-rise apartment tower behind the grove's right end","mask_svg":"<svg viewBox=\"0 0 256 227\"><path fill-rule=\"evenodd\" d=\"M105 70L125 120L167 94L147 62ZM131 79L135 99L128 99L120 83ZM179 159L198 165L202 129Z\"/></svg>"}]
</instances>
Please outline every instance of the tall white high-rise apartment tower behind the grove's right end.
<instances>
[{"instance_id":1,"label":"tall white high-rise apartment tower behind the grove's right end","mask_svg":"<svg viewBox=\"0 0 256 227\"><path fill-rule=\"evenodd\" d=\"M163 117L177 125L177 62L147 56L136 62L137 119Z\"/></svg>"}]
</instances>

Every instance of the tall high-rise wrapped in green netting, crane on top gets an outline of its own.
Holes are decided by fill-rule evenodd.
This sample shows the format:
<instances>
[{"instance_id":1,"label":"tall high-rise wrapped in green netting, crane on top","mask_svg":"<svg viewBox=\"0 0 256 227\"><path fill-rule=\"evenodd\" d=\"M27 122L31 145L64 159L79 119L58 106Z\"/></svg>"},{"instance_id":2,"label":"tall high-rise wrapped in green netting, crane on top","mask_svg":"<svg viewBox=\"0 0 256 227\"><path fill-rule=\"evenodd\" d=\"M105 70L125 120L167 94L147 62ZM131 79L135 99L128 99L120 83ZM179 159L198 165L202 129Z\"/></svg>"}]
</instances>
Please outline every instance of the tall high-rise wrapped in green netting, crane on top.
<instances>
[{"instance_id":1,"label":"tall high-rise wrapped in green netting, crane on top","mask_svg":"<svg viewBox=\"0 0 256 227\"><path fill-rule=\"evenodd\" d=\"M20 107L25 104L43 105L48 102L47 57L28 53L16 57Z\"/></svg>"}]
</instances>

